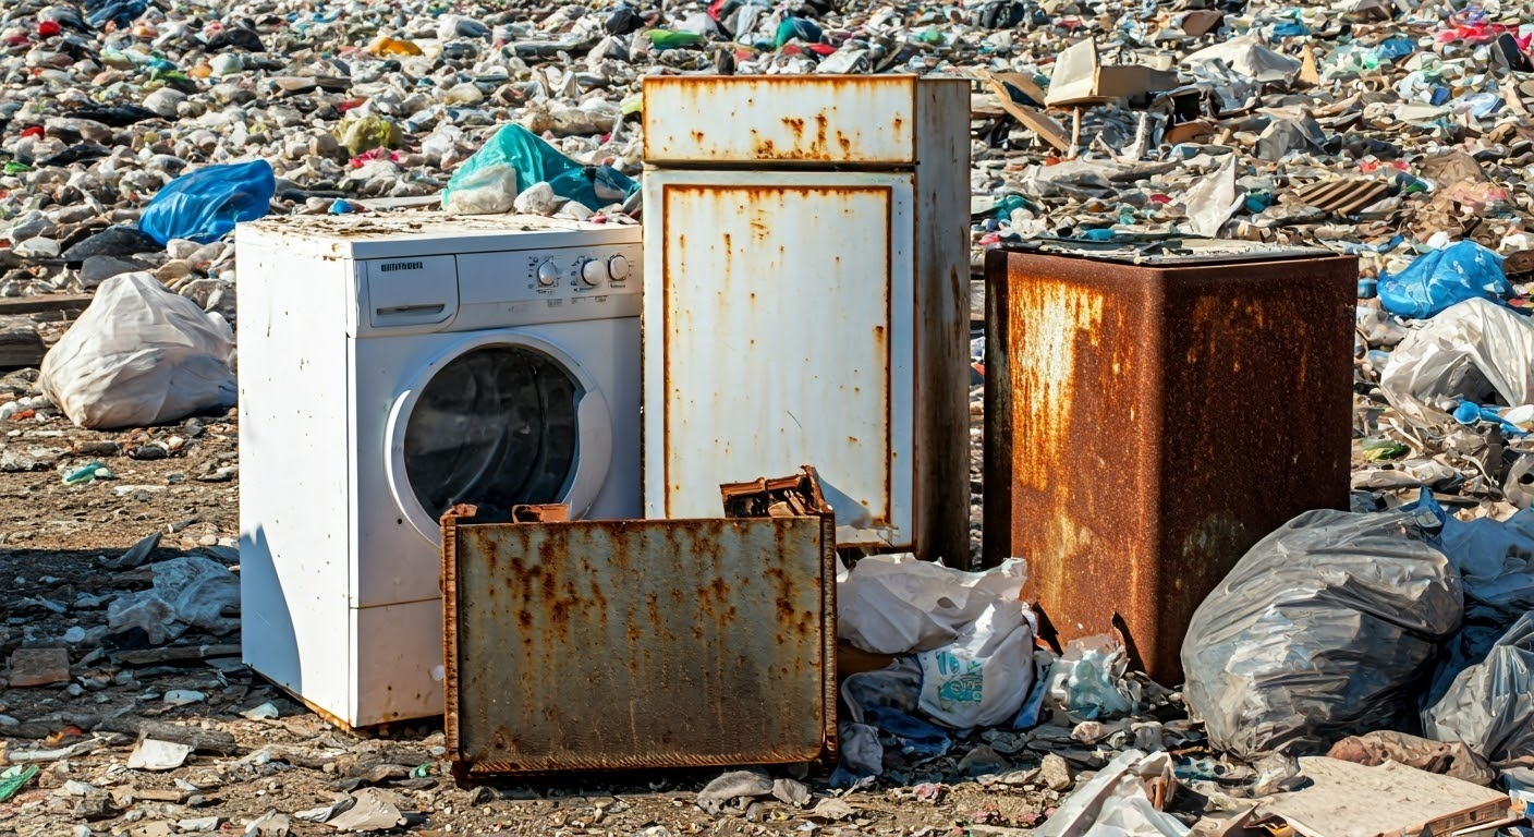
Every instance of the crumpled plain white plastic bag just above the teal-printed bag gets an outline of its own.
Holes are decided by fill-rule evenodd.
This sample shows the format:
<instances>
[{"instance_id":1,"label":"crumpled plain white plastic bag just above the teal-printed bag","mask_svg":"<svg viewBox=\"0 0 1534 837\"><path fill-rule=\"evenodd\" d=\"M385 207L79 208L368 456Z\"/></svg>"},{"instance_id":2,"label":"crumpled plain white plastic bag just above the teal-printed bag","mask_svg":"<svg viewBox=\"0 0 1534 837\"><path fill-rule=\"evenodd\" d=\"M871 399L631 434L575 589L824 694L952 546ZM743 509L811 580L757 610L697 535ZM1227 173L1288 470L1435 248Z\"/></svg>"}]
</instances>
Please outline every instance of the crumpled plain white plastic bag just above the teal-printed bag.
<instances>
[{"instance_id":1,"label":"crumpled plain white plastic bag just above the teal-printed bag","mask_svg":"<svg viewBox=\"0 0 1534 837\"><path fill-rule=\"evenodd\" d=\"M1017 557L986 573L911 554L865 557L836 585L836 636L874 654L942 648L996 602L1022 611L1025 581L1028 565Z\"/></svg>"}]
</instances>

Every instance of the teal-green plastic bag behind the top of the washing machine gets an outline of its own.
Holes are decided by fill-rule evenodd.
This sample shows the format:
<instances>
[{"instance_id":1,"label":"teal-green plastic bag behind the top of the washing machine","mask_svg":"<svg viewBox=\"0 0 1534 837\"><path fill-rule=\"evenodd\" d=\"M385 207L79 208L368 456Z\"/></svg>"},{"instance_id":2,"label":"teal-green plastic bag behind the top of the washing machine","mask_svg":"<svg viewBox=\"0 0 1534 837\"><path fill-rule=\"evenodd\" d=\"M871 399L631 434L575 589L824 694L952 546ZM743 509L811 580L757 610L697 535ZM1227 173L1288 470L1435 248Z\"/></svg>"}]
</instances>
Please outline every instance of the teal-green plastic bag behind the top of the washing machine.
<instances>
[{"instance_id":1,"label":"teal-green plastic bag behind the top of the washing machine","mask_svg":"<svg viewBox=\"0 0 1534 837\"><path fill-rule=\"evenodd\" d=\"M453 172L448 187L442 190L442 206L451 210L456 190L482 189L497 180L488 177L497 167L515 172L517 189L548 183L555 195L592 210L621 203L640 187L611 166L581 166L526 127L508 124Z\"/></svg>"}]
</instances>

